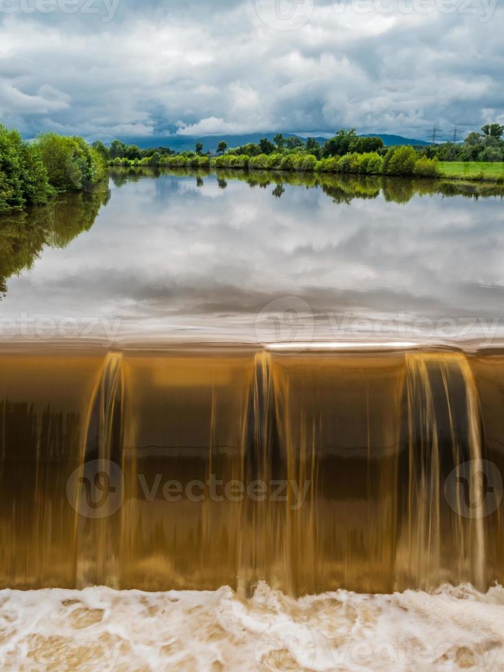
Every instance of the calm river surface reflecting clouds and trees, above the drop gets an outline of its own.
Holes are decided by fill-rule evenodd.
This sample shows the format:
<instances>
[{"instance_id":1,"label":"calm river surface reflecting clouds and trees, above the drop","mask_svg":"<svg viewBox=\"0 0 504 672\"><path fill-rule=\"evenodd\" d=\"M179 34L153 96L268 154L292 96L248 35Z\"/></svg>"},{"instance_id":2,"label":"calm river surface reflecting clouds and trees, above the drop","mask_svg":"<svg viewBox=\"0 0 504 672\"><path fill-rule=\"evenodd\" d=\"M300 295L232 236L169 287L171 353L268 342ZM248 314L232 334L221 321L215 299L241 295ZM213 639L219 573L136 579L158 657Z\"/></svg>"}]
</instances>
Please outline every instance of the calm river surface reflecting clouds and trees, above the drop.
<instances>
[{"instance_id":1,"label":"calm river surface reflecting clouds and trees, above the drop","mask_svg":"<svg viewBox=\"0 0 504 672\"><path fill-rule=\"evenodd\" d=\"M504 208L477 189L117 173L1 221L1 336L494 342Z\"/></svg>"}]
</instances>

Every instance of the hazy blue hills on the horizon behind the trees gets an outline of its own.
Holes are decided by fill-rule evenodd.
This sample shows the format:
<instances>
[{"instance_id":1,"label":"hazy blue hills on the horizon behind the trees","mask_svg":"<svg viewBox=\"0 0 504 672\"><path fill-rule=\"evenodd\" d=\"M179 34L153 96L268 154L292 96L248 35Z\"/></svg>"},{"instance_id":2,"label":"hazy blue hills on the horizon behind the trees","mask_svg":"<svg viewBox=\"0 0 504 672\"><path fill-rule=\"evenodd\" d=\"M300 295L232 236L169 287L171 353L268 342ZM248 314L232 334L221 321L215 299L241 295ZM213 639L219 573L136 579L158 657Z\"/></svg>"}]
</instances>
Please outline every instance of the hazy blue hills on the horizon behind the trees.
<instances>
[{"instance_id":1,"label":"hazy blue hills on the horizon behind the trees","mask_svg":"<svg viewBox=\"0 0 504 672\"><path fill-rule=\"evenodd\" d=\"M213 135L213 136L189 136L189 135L174 135L161 136L152 138L121 138L123 142L128 145L138 145L139 147L169 147L175 149L176 152L184 152L194 150L196 143L202 143L204 152L215 152L217 145L221 140L228 143L228 147L239 147L239 145L246 145L247 143L258 143L261 138L273 140L274 133L248 133L243 135ZM295 133L284 133L285 138L295 136ZM300 139L306 141L306 136L298 135ZM387 135L383 133L365 133L361 137L379 137L385 143L385 146L391 145L422 145L427 147L429 143L423 140L412 140L410 138L403 138L400 135ZM323 145L327 138L315 136L315 140Z\"/></svg>"}]
</instances>

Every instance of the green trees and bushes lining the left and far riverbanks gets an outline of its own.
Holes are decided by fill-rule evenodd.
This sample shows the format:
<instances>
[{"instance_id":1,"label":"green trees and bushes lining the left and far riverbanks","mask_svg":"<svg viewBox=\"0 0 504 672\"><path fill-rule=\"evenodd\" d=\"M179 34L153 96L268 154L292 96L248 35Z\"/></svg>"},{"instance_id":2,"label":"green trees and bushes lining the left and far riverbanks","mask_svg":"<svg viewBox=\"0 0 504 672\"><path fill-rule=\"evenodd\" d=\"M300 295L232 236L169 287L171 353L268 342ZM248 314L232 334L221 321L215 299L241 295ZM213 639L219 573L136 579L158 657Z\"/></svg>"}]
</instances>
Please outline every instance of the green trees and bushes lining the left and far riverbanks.
<instances>
[{"instance_id":1,"label":"green trees and bushes lining the left and far riverbanks","mask_svg":"<svg viewBox=\"0 0 504 672\"><path fill-rule=\"evenodd\" d=\"M504 126L485 124L481 132L468 134L463 143L429 147L385 147L379 137L361 137L355 129L339 130L324 144L315 138L278 133L273 140L228 147L217 145L216 154L174 152L169 147L141 149L114 140L88 145L77 136L45 133L33 142L23 141L16 130L0 124L0 214L30 205L45 204L56 193L91 191L107 176L108 165L128 167L197 167L275 169L367 175L417 175L435 177L438 161L502 161Z\"/></svg>"}]
</instances>

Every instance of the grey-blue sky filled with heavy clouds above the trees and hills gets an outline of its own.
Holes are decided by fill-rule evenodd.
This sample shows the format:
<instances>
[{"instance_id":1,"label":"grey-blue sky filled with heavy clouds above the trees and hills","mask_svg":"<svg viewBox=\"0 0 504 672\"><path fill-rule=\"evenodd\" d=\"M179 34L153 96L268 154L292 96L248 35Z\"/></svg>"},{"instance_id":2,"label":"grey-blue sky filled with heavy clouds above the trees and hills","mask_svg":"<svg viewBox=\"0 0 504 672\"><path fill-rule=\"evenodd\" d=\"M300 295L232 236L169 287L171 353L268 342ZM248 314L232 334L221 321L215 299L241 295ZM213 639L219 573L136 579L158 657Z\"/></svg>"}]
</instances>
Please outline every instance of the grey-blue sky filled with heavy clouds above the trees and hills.
<instances>
[{"instance_id":1,"label":"grey-blue sky filled with heavy clouds above the trees and hills","mask_svg":"<svg viewBox=\"0 0 504 672\"><path fill-rule=\"evenodd\" d=\"M498 0L0 0L0 121L105 141L464 135L504 123L503 34Z\"/></svg>"}]
</instances>

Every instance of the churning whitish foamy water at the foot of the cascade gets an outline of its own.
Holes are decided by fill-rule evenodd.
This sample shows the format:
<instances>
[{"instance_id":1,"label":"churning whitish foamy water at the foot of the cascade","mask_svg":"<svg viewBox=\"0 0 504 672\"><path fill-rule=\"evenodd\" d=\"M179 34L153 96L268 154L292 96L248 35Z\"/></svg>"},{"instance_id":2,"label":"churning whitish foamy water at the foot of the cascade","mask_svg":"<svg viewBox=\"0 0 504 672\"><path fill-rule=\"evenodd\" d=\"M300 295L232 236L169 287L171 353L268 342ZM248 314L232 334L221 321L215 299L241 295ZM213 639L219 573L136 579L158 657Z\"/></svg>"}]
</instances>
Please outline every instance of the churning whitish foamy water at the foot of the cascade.
<instances>
[{"instance_id":1,"label":"churning whitish foamy water at the foot of the cascade","mask_svg":"<svg viewBox=\"0 0 504 672\"><path fill-rule=\"evenodd\" d=\"M0 592L3 670L504 669L504 589Z\"/></svg>"}]
</instances>

